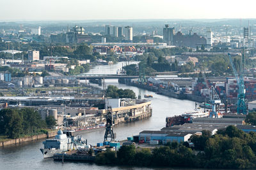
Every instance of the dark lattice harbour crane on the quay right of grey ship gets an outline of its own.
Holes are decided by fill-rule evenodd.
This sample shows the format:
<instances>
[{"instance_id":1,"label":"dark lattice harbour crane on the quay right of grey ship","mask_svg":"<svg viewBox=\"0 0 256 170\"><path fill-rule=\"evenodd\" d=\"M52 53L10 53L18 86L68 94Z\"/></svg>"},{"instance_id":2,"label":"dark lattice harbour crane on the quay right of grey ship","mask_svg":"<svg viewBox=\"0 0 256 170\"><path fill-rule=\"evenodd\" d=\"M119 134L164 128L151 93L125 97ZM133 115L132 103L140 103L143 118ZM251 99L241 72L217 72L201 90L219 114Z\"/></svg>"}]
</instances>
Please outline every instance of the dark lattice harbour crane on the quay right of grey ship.
<instances>
[{"instance_id":1,"label":"dark lattice harbour crane on the quay right of grey ship","mask_svg":"<svg viewBox=\"0 0 256 170\"><path fill-rule=\"evenodd\" d=\"M103 78L102 82L103 86L103 92L104 92L104 101L105 101L105 110L106 110L106 131L104 135L104 141L108 141L108 138L111 138L110 141L115 140L114 132L113 132L113 115L112 115L112 107L109 106L108 98L106 96L106 82L105 79Z\"/></svg>"}]
</instances>

